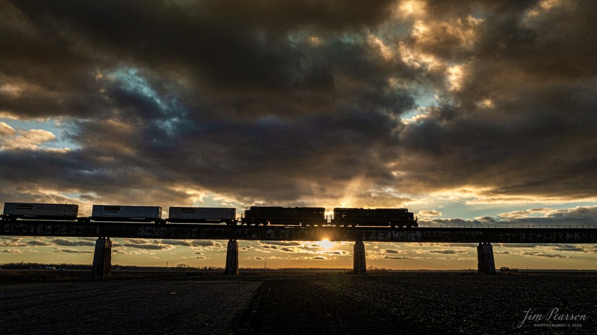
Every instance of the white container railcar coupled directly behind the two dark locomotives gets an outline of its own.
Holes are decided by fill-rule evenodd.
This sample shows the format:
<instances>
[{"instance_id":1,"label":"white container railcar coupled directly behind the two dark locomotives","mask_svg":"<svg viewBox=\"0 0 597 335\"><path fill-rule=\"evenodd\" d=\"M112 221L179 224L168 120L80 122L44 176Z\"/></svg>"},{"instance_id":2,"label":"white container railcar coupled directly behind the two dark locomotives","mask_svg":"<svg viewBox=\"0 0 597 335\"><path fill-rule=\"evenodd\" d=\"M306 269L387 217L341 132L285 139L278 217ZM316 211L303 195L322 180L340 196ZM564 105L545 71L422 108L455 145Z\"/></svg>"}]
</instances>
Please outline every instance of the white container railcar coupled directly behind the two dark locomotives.
<instances>
[{"instance_id":1,"label":"white container railcar coupled directly behind the two dark locomotives","mask_svg":"<svg viewBox=\"0 0 597 335\"><path fill-rule=\"evenodd\" d=\"M236 208L225 207L170 207L168 222L198 224L236 224Z\"/></svg>"}]
</instances>

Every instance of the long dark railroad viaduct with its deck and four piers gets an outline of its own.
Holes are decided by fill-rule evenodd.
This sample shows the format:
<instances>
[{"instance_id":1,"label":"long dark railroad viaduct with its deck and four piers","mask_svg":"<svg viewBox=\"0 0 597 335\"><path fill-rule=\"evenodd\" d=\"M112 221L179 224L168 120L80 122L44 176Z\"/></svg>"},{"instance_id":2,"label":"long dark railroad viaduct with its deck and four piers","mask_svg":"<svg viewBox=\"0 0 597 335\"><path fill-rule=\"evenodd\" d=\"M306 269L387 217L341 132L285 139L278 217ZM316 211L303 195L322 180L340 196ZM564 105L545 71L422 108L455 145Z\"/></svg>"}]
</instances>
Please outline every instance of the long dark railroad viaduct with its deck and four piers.
<instances>
[{"instance_id":1,"label":"long dark railroad viaduct with its deck and four piers","mask_svg":"<svg viewBox=\"0 0 597 335\"><path fill-rule=\"evenodd\" d=\"M93 275L104 278L112 267L110 238L167 238L180 240L228 240L226 274L238 274L238 240L262 241L354 241L353 273L366 273L365 244L377 242L479 243L478 271L496 273L491 243L597 243L594 226L541 227L284 227L227 226L72 221L0 221L0 235L98 237Z\"/></svg>"}]
</instances>

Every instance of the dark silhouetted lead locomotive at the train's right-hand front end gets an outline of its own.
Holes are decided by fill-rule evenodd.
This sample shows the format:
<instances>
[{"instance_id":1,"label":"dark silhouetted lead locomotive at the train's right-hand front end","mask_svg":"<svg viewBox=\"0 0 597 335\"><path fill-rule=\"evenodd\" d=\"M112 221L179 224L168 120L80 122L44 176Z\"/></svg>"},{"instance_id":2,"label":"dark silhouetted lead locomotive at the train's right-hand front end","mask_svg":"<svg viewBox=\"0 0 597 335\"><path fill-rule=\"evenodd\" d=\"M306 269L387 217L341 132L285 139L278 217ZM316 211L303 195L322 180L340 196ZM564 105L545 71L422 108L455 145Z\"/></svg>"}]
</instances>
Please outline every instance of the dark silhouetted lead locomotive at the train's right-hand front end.
<instances>
[{"instance_id":1,"label":"dark silhouetted lead locomotive at the train's right-hand front end","mask_svg":"<svg viewBox=\"0 0 597 335\"><path fill-rule=\"evenodd\" d=\"M334 208L336 226L418 227L417 219L406 208Z\"/></svg>"}]
</instances>

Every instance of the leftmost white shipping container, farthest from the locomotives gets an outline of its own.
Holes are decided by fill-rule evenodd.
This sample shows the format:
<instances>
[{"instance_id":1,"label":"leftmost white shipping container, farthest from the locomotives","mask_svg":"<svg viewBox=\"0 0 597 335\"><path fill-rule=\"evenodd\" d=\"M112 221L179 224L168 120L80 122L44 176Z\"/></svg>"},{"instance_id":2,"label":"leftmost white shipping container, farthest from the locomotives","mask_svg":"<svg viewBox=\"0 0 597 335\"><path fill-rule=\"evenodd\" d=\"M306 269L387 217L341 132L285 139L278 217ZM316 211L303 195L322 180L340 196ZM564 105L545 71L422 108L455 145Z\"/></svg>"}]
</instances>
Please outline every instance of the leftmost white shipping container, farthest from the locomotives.
<instances>
[{"instance_id":1,"label":"leftmost white shipping container, farthest from the locomotives","mask_svg":"<svg viewBox=\"0 0 597 335\"><path fill-rule=\"evenodd\" d=\"M4 215L76 218L79 205L51 203L4 203Z\"/></svg>"}]
</instances>

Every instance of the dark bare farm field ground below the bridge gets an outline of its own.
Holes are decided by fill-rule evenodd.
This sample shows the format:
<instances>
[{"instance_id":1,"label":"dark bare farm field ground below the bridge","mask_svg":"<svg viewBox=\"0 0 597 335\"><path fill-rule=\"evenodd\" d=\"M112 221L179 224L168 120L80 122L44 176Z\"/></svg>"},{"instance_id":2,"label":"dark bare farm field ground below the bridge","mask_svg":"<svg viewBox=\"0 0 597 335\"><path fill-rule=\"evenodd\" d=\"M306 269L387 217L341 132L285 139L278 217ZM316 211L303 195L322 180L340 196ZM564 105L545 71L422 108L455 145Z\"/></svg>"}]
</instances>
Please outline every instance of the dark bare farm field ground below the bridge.
<instances>
[{"instance_id":1,"label":"dark bare farm field ground below the bridge","mask_svg":"<svg viewBox=\"0 0 597 335\"><path fill-rule=\"evenodd\" d=\"M587 319L527 320L516 327L528 309L547 314L553 308ZM590 275L240 275L0 284L0 334L7 335L595 334L596 321L597 276Z\"/></svg>"}]
</instances>

